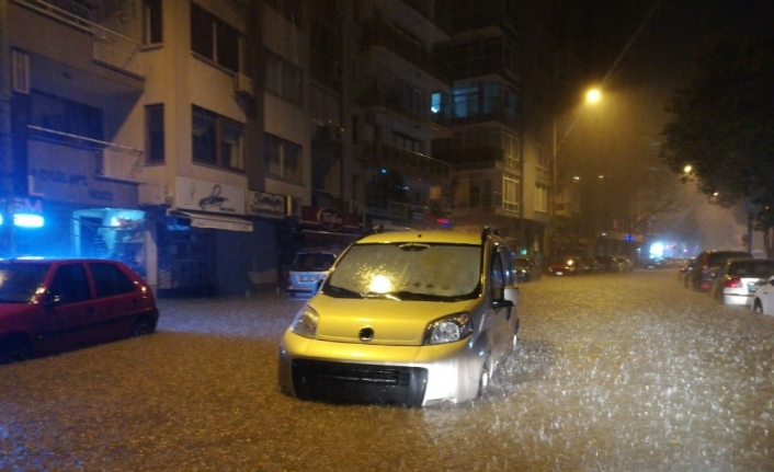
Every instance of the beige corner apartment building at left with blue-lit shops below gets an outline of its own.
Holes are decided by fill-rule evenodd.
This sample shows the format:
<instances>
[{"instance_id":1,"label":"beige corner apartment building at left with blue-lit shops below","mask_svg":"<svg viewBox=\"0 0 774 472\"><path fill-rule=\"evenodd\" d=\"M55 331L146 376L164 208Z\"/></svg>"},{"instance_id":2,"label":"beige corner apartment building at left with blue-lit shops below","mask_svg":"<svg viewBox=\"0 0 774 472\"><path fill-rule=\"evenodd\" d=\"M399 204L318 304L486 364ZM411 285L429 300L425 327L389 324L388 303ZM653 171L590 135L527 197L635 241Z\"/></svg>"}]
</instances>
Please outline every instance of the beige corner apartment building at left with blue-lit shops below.
<instances>
[{"instance_id":1,"label":"beige corner apartment building at left with blue-lit shops below","mask_svg":"<svg viewBox=\"0 0 774 472\"><path fill-rule=\"evenodd\" d=\"M264 159L248 133L260 120L244 32L263 15L240 1L0 4L4 252L122 260L162 296L276 280L293 192L254 176ZM10 223L24 212L38 228Z\"/></svg>"}]
</instances>

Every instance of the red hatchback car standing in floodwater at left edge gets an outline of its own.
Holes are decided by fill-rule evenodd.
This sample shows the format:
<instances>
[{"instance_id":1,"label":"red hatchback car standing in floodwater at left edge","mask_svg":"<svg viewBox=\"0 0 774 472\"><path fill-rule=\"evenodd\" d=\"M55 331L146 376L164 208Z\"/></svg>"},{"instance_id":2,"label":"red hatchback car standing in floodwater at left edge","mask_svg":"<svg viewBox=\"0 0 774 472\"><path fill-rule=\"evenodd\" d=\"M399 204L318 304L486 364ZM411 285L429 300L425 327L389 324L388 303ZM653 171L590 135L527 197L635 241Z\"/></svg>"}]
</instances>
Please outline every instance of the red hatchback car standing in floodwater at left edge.
<instances>
[{"instance_id":1,"label":"red hatchback car standing in floodwater at left edge","mask_svg":"<svg viewBox=\"0 0 774 472\"><path fill-rule=\"evenodd\" d=\"M0 261L0 364L156 330L150 287L104 260Z\"/></svg>"}]
</instances>

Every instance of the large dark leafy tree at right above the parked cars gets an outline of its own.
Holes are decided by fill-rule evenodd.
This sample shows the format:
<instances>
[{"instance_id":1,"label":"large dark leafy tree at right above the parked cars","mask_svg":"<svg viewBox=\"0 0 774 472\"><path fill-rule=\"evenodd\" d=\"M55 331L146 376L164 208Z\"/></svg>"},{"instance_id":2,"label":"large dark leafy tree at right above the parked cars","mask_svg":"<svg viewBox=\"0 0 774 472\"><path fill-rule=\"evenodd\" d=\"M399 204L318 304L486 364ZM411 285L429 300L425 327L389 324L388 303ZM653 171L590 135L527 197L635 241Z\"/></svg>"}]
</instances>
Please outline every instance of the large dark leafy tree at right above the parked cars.
<instances>
[{"instance_id":1,"label":"large dark leafy tree at right above the parked cars","mask_svg":"<svg viewBox=\"0 0 774 472\"><path fill-rule=\"evenodd\" d=\"M663 128L662 159L718 205L758 205L758 229L772 256L774 34L708 41L667 112L673 119Z\"/></svg>"}]
</instances>

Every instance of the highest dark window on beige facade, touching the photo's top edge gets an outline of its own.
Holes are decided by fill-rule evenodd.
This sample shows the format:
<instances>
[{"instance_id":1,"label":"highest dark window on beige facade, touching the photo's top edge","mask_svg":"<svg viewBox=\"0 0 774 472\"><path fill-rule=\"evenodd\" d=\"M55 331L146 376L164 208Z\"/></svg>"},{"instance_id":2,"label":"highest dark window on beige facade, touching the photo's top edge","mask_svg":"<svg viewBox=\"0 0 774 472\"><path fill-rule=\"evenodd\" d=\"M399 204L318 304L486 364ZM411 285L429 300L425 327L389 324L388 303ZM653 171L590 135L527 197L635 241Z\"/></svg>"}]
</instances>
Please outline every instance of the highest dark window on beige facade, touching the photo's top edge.
<instances>
[{"instance_id":1,"label":"highest dark window on beige facade, touching the photo's top edge","mask_svg":"<svg viewBox=\"0 0 774 472\"><path fill-rule=\"evenodd\" d=\"M196 3L191 3L191 50L239 72L239 32Z\"/></svg>"}]
</instances>

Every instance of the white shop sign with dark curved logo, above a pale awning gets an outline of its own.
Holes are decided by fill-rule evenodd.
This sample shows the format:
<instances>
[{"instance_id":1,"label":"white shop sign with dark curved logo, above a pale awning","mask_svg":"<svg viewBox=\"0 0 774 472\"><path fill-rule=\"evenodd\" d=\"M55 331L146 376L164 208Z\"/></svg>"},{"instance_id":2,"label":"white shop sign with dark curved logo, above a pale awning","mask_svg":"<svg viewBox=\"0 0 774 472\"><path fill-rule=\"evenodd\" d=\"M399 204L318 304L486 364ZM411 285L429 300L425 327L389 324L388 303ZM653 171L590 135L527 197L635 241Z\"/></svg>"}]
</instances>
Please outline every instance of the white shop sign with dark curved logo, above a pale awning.
<instances>
[{"instance_id":1,"label":"white shop sign with dark curved logo, above a pale awning","mask_svg":"<svg viewBox=\"0 0 774 472\"><path fill-rule=\"evenodd\" d=\"M178 176L175 181L178 208L244 215L244 188L236 185Z\"/></svg>"}]
</instances>

